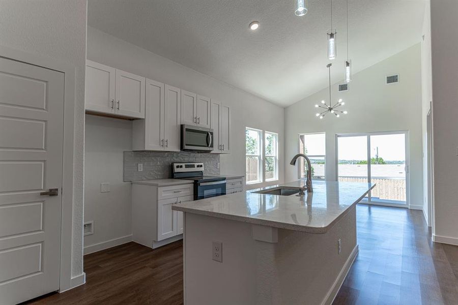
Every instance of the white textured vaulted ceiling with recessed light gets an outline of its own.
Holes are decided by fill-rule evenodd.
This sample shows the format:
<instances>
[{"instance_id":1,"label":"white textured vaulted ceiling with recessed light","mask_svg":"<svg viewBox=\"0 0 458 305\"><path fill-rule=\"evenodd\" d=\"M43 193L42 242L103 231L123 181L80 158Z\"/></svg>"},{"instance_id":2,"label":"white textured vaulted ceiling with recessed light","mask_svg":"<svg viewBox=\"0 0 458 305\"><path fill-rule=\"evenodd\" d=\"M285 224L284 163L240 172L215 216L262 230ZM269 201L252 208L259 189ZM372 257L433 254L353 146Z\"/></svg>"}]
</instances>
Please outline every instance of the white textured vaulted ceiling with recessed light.
<instances>
[{"instance_id":1,"label":"white textured vaulted ceiling with recessed light","mask_svg":"<svg viewBox=\"0 0 458 305\"><path fill-rule=\"evenodd\" d=\"M424 0L350 0L353 73L420 41ZM333 1L337 58L329 61L330 2L309 0L89 0L90 26L280 106L343 79L346 1ZM260 21L257 31L248 24Z\"/></svg>"}]
</instances>

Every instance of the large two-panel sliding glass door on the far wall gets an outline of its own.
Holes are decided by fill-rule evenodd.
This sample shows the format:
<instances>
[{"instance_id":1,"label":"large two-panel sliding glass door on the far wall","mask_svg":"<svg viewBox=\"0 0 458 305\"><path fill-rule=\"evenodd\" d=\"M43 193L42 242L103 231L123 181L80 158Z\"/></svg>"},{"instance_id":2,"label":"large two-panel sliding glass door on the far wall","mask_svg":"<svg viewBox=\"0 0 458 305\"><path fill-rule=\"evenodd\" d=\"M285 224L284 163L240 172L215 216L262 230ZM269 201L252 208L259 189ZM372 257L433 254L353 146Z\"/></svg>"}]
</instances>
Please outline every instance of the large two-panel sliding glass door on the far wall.
<instances>
[{"instance_id":1,"label":"large two-panel sliding glass door on the far wall","mask_svg":"<svg viewBox=\"0 0 458 305\"><path fill-rule=\"evenodd\" d=\"M368 203L406 205L406 133L337 137L339 181L372 182Z\"/></svg>"}]
</instances>

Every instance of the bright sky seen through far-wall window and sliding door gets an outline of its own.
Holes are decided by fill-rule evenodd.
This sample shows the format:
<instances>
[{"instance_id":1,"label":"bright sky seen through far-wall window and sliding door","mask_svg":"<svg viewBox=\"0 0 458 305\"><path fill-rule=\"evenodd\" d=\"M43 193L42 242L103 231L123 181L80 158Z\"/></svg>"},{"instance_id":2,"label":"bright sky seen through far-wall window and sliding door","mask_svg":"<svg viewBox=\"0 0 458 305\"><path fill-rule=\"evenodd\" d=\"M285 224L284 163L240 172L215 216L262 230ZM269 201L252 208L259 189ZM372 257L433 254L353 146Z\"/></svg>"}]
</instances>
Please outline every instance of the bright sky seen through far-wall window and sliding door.
<instances>
[{"instance_id":1,"label":"bright sky seen through far-wall window and sliding door","mask_svg":"<svg viewBox=\"0 0 458 305\"><path fill-rule=\"evenodd\" d=\"M325 155L325 134L305 135L305 145L308 155ZM376 157L377 147L379 157L387 161L404 161L405 134L372 135L370 136L370 155ZM367 138L338 137L339 160L367 160Z\"/></svg>"}]
</instances>

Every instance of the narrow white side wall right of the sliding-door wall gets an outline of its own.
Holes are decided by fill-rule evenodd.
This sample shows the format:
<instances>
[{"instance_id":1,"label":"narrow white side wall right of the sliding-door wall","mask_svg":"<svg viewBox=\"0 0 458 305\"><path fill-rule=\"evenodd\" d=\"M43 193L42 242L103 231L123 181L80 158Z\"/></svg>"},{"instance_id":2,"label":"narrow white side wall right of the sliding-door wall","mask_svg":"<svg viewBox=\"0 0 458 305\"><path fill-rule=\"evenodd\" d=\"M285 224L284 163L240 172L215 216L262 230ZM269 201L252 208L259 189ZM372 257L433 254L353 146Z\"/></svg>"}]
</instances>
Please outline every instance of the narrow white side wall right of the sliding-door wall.
<instances>
[{"instance_id":1,"label":"narrow white side wall right of the sliding-door wall","mask_svg":"<svg viewBox=\"0 0 458 305\"><path fill-rule=\"evenodd\" d=\"M423 140L423 212L428 221L428 150L427 150L427 114L433 100L433 84L431 72L431 8L430 2L425 4L421 50L421 125ZM431 224L428 224L431 226Z\"/></svg>"}]
</instances>

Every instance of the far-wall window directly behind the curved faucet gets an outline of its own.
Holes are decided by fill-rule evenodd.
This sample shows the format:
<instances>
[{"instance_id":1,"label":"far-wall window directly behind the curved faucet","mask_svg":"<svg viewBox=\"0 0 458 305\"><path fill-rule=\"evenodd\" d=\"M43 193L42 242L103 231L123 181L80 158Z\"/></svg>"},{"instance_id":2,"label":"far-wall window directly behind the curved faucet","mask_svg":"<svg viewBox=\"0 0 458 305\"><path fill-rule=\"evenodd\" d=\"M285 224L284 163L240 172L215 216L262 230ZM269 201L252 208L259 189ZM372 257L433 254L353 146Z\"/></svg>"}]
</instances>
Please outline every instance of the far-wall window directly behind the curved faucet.
<instances>
[{"instance_id":1,"label":"far-wall window directly behind the curved faucet","mask_svg":"<svg viewBox=\"0 0 458 305\"><path fill-rule=\"evenodd\" d=\"M312 167L312 179L326 179L326 134L300 134L299 152L307 155ZM307 166L303 158L299 158L299 177L307 177Z\"/></svg>"}]
</instances>

